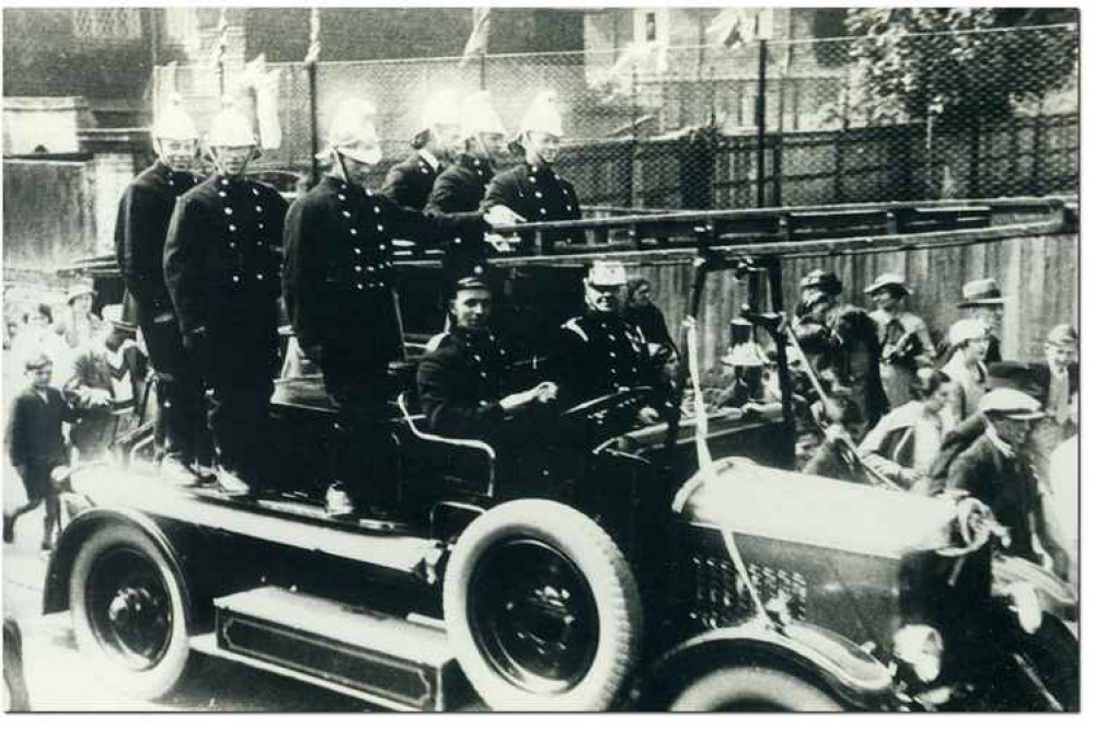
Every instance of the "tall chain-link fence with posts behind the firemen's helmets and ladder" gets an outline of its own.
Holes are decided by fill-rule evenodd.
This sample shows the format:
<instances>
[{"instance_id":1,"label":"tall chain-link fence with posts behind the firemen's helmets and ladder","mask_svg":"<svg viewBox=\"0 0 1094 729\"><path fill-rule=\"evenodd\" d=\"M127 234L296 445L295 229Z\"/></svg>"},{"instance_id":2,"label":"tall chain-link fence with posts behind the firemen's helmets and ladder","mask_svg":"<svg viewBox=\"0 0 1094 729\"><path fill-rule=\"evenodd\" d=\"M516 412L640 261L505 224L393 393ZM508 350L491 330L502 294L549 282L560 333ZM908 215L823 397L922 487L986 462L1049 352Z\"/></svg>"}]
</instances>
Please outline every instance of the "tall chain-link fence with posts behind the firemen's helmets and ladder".
<instances>
[{"instance_id":1,"label":"tall chain-link fence with posts behind the firemen's helmets and ladder","mask_svg":"<svg viewBox=\"0 0 1094 729\"><path fill-rule=\"evenodd\" d=\"M558 166L586 207L733 209L1074 193L1078 28L884 34L725 46L635 47L399 61L320 61L279 72L283 141L264 166L311 171L311 100L320 146L338 102L379 109L387 166L410 152L435 91L485 88L516 129L533 96L557 92ZM229 65L160 68L198 117Z\"/></svg>"}]
</instances>

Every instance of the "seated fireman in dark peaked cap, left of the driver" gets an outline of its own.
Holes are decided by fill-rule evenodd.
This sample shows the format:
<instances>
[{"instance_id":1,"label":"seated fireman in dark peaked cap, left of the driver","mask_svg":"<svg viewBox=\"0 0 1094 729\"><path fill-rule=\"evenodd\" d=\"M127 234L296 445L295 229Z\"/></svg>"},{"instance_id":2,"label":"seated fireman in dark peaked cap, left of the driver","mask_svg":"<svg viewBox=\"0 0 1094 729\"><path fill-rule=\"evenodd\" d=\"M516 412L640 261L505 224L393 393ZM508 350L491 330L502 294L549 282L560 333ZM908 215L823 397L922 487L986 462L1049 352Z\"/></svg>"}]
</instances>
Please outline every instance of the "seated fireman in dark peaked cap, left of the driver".
<instances>
[{"instance_id":1,"label":"seated fireman in dark peaked cap, left of the driver","mask_svg":"<svg viewBox=\"0 0 1094 729\"><path fill-rule=\"evenodd\" d=\"M483 264L460 278L449 300L452 327L430 340L418 366L418 400L429 429L450 438L494 440L510 416L554 401L557 387L541 382L503 395L509 355L490 328L493 297Z\"/></svg>"}]
</instances>

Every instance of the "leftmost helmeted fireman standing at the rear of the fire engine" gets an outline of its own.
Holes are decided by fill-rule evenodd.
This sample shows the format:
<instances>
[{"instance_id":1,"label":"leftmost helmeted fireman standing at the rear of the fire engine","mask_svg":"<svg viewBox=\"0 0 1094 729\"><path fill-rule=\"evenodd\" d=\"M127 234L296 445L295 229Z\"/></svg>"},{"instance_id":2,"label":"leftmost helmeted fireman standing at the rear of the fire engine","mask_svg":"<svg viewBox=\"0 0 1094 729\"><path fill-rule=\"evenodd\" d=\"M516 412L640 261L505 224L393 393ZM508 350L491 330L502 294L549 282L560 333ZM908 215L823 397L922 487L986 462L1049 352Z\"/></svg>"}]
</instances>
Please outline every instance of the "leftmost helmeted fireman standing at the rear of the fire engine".
<instances>
[{"instance_id":1,"label":"leftmost helmeted fireman standing at the rear of the fire engine","mask_svg":"<svg viewBox=\"0 0 1094 729\"><path fill-rule=\"evenodd\" d=\"M157 373L156 429L164 437L160 473L173 483L193 485L201 476L198 451L206 442L201 377L183 349L163 277L163 246L175 200L198 182L192 172L197 127L177 97L156 118L152 147L156 162L122 197L114 243L118 270L137 304L137 321Z\"/></svg>"}]
</instances>

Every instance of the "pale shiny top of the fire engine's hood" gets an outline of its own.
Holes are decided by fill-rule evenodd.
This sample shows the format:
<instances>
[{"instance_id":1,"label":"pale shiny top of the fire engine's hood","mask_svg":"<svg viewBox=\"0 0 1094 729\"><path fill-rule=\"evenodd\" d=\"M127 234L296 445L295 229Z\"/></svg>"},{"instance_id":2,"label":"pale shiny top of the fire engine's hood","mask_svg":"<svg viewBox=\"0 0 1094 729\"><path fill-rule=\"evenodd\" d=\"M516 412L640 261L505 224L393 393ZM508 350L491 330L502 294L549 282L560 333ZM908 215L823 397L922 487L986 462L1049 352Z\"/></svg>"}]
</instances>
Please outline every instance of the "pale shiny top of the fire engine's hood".
<instances>
[{"instance_id":1,"label":"pale shiny top of the fire engine's hood","mask_svg":"<svg viewBox=\"0 0 1094 729\"><path fill-rule=\"evenodd\" d=\"M953 501L780 471L748 459L692 476L673 508L686 520L755 535L899 558L954 546Z\"/></svg>"}]
</instances>

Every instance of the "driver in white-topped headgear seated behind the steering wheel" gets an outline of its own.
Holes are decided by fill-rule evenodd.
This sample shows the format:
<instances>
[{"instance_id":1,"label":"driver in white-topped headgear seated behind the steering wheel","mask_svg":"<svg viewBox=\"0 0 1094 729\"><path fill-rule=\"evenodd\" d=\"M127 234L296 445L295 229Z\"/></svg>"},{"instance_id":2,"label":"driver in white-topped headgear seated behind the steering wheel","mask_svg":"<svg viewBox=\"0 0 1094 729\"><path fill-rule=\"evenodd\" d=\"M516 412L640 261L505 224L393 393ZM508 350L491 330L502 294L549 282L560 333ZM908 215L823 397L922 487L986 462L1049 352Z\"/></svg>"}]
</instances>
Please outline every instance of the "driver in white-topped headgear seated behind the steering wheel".
<instances>
[{"instance_id":1,"label":"driver in white-topped headgear seated behind the steering wheel","mask_svg":"<svg viewBox=\"0 0 1094 729\"><path fill-rule=\"evenodd\" d=\"M625 285L622 264L595 262L585 279L585 314L562 325L554 370L567 406L630 387L664 389L645 337L620 314ZM640 417L653 423L657 413L647 407Z\"/></svg>"}]
</instances>

